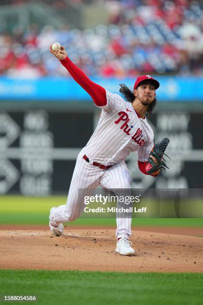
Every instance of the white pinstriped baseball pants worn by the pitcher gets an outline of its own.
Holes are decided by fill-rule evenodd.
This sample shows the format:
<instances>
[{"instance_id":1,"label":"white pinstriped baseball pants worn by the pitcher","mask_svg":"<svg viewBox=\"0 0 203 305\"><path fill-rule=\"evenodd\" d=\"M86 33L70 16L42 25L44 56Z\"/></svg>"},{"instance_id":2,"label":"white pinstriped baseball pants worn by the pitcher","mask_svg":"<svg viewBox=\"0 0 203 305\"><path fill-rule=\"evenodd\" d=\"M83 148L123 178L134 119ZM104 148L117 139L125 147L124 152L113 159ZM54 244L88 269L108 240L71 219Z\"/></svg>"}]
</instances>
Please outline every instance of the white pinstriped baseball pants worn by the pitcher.
<instances>
[{"instance_id":1,"label":"white pinstriped baseball pants worn by the pitcher","mask_svg":"<svg viewBox=\"0 0 203 305\"><path fill-rule=\"evenodd\" d=\"M49 218L54 226L61 222L77 219L85 207L84 196L91 196L99 184L106 189L130 189L130 176L124 161L116 163L108 169L101 169L83 159L84 154L85 152L82 150L77 157L66 204L51 209ZM119 214L119 217L116 217L116 223L116 237L129 238L131 215L125 217Z\"/></svg>"}]
</instances>

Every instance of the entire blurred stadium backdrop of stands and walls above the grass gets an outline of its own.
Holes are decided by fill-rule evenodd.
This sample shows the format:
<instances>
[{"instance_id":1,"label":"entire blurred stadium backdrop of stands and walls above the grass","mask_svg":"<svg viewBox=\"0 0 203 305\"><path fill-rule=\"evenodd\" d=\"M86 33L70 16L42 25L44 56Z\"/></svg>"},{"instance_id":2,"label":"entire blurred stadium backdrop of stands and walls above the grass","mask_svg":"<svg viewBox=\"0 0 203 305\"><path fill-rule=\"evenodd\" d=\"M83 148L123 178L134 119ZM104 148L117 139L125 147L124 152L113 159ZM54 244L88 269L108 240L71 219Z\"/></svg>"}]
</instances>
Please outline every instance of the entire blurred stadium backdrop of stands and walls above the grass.
<instances>
[{"instance_id":1,"label":"entire blurred stadium backdrop of stands and walls above the grass","mask_svg":"<svg viewBox=\"0 0 203 305\"><path fill-rule=\"evenodd\" d=\"M55 41L111 92L142 74L160 81L149 122L155 141L171 140L170 170L145 176L132 153L132 187L202 188L202 1L2 0L0 195L67 195L98 122L100 111L49 53Z\"/></svg>"}]
</instances>

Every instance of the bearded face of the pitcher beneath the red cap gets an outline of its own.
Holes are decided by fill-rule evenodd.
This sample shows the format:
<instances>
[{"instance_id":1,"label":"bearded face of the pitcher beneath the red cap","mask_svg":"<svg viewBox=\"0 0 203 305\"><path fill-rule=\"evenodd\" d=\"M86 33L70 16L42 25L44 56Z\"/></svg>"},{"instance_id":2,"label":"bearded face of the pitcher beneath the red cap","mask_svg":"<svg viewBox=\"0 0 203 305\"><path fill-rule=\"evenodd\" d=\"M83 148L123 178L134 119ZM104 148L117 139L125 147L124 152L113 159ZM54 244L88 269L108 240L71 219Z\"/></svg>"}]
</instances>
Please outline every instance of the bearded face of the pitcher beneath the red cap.
<instances>
[{"instance_id":1,"label":"bearded face of the pitcher beneath the red cap","mask_svg":"<svg viewBox=\"0 0 203 305\"><path fill-rule=\"evenodd\" d=\"M155 87L152 84L142 84L133 93L143 106L150 105L156 95Z\"/></svg>"}]
</instances>

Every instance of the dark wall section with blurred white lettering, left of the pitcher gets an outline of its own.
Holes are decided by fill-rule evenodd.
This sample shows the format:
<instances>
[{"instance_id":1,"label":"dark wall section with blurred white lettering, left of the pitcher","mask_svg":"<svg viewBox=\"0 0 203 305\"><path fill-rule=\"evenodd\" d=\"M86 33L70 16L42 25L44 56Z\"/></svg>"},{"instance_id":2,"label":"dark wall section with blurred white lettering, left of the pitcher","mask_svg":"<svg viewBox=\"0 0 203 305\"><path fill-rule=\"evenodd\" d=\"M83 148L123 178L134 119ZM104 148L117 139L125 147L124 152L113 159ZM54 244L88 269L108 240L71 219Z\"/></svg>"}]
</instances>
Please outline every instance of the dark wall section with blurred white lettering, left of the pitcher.
<instances>
[{"instance_id":1,"label":"dark wall section with blurred white lettering, left of the pitcher","mask_svg":"<svg viewBox=\"0 0 203 305\"><path fill-rule=\"evenodd\" d=\"M93 115L44 110L0 113L0 194L68 192Z\"/></svg>"}]
</instances>

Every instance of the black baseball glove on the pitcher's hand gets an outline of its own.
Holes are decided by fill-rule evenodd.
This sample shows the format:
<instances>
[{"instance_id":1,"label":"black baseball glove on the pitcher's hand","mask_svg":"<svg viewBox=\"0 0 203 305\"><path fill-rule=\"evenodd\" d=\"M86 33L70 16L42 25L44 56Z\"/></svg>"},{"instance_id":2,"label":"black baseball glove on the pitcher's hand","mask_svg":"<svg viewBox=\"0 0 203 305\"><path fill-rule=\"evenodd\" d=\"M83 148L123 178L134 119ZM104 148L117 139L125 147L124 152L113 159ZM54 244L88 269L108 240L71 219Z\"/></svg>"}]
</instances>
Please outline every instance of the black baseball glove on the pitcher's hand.
<instances>
[{"instance_id":1,"label":"black baseball glove on the pitcher's hand","mask_svg":"<svg viewBox=\"0 0 203 305\"><path fill-rule=\"evenodd\" d=\"M152 151L150 152L149 158L147 160L146 165L146 171L149 175L156 176L159 173L160 168L169 168L164 162L166 161L163 158L163 155L165 154L165 150L167 148L167 145L169 144L169 139L164 138L162 141L155 144ZM170 157L165 154L169 159Z\"/></svg>"}]
</instances>

